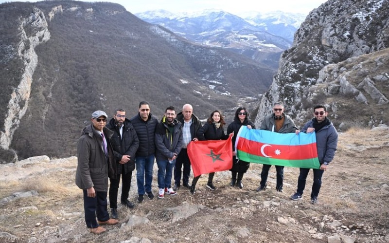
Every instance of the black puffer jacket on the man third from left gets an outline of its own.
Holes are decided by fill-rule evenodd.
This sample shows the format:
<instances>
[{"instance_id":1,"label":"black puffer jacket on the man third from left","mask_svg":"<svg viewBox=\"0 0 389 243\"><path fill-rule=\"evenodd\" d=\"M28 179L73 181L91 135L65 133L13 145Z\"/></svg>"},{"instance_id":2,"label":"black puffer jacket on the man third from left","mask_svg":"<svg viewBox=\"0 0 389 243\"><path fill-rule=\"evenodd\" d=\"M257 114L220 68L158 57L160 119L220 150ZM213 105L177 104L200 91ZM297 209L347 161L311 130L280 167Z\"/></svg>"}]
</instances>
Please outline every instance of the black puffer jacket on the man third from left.
<instances>
[{"instance_id":1,"label":"black puffer jacket on the man third from left","mask_svg":"<svg viewBox=\"0 0 389 243\"><path fill-rule=\"evenodd\" d=\"M141 115L135 115L130 119L132 126L134 126L139 139L139 147L136 156L150 156L155 154L155 129L158 124L158 119L151 113L147 121L143 121Z\"/></svg>"}]
</instances>

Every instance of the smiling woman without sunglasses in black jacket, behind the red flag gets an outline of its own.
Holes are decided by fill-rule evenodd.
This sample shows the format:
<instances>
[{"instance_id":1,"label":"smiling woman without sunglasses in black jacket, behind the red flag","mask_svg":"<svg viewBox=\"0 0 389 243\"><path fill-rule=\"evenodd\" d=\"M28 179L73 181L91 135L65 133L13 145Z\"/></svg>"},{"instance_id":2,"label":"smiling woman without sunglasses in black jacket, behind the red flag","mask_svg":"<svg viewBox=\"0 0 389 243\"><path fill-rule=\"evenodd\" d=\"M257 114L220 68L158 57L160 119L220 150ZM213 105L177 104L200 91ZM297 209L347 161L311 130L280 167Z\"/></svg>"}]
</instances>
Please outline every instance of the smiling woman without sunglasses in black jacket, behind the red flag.
<instances>
[{"instance_id":1,"label":"smiling woman without sunglasses in black jacket, behind the red flag","mask_svg":"<svg viewBox=\"0 0 389 243\"><path fill-rule=\"evenodd\" d=\"M226 122L224 121L223 115L219 111L213 111L211 113L211 116L208 118L207 122L202 126L196 134L196 137L198 140L227 140L229 137L227 134L224 133L224 125ZM215 172L209 173L208 176L208 183L207 187L211 190L216 189L216 187L213 185L213 176L215 175ZM195 194L195 187L198 179L201 175L195 177L192 181L191 186L191 193Z\"/></svg>"}]
</instances>

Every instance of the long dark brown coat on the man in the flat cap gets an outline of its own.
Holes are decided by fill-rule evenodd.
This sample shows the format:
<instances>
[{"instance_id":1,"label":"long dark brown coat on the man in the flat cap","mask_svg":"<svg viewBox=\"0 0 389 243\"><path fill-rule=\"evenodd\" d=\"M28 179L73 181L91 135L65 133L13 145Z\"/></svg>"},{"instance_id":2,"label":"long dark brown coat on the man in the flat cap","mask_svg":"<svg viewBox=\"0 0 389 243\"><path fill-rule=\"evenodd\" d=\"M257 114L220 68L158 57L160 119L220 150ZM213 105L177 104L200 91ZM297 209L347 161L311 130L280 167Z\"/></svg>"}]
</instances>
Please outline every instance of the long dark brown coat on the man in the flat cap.
<instances>
[{"instance_id":1,"label":"long dark brown coat on the man in the flat cap","mask_svg":"<svg viewBox=\"0 0 389 243\"><path fill-rule=\"evenodd\" d=\"M94 187L96 191L108 190L108 176L117 179L117 168L110 143L113 131L103 128L108 149L108 163L103 150L103 138L93 124L86 126L77 144L76 185L86 190Z\"/></svg>"}]
</instances>

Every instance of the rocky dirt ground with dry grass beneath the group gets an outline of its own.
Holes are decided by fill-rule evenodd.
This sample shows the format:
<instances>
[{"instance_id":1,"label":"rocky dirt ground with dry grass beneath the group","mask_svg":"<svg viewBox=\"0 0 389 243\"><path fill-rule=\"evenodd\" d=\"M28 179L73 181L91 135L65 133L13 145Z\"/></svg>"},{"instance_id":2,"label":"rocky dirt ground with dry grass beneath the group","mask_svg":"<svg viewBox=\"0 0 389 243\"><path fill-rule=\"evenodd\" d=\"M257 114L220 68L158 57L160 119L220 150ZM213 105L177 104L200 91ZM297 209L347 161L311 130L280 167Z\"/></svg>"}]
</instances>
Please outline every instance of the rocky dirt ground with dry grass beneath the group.
<instances>
[{"instance_id":1,"label":"rocky dirt ground with dry grass beneath the group","mask_svg":"<svg viewBox=\"0 0 389 243\"><path fill-rule=\"evenodd\" d=\"M262 165L251 164L243 189L230 187L230 171L224 171L215 175L215 191L205 187L208 176L203 175L195 195L179 188L176 196L146 197L133 209L119 204L120 224L107 226L108 232L98 236L89 233L84 222L82 191L74 185L76 163L71 157L0 165L0 200L18 191L38 192L0 204L0 243L389 242L387 128L339 134L318 205L309 200L312 172L303 200L292 201L298 168L285 168L283 193L275 190L274 167L269 187L256 192ZM157 189L155 176L155 194ZM135 202L136 197L134 171L129 199Z\"/></svg>"}]
</instances>

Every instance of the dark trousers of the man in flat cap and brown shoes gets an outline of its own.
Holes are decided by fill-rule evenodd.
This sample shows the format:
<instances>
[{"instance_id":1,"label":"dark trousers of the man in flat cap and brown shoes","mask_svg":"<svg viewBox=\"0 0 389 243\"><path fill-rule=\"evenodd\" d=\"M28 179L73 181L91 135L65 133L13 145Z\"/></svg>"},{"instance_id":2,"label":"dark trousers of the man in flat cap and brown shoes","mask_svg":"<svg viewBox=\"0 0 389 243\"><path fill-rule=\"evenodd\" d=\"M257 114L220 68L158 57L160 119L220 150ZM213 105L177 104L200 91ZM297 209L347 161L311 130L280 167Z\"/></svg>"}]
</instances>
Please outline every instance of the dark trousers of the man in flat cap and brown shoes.
<instances>
[{"instance_id":1,"label":"dark trousers of the man in flat cap and brown shoes","mask_svg":"<svg viewBox=\"0 0 389 243\"><path fill-rule=\"evenodd\" d=\"M98 221L109 220L109 214L106 210L106 191L96 191L96 197L88 197L87 190L83 190L83 192L85 223L87 223L88 228L97 228L99 224L96 221L96 216Z\"/></svg>"}]
</instances>

